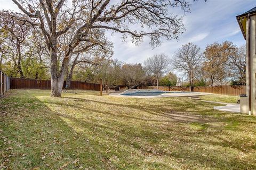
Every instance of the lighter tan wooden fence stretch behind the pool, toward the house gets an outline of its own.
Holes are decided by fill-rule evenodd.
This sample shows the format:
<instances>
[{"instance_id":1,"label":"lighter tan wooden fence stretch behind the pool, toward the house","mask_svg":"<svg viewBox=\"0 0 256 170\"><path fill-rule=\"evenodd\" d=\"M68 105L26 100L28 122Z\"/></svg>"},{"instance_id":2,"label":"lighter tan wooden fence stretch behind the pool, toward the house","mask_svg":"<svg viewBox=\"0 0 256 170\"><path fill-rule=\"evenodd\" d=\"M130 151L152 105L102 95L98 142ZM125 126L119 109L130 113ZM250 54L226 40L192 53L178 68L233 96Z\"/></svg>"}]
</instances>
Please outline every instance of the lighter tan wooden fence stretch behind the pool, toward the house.
<instances>
[{"instance_id":1,"label":"lighter tan wooden fence stretch behind the pool, toward the house","mask_svg":"<svg viewBox=\"0 0 256 170\"><path fill-rule=\"evenodd\" d=\"M138 89L157 89L156 86L138 86ZM189 91L189 87L163 87L159 86L159 90L164 91ZM207 87L194 87L195 92L210 92L212 94L238 96L246 94L246 86L207 86Z\"/></svg>"}]
</instances>

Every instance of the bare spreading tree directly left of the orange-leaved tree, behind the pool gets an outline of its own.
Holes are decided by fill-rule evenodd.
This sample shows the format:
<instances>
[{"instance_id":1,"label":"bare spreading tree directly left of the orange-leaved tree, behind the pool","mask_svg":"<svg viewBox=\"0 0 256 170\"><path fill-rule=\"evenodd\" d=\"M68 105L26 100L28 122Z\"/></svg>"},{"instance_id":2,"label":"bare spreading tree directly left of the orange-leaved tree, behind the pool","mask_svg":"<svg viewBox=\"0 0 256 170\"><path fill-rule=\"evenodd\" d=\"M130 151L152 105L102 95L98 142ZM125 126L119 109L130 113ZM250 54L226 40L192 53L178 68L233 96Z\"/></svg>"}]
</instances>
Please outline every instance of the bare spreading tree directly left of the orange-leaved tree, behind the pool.
<instances>
[{"instance_id":1,"label":"bare spreading tree directly left of the orange-leaved tree, behind the pool","mask_svg":"<svg viewBox=\"0 0 256 170\"><path fill-rule=\"evenodd\" d=\"M194 76L197 67L201 64L202 53L200 48L193 43L182 45L175 53L173 68L185 72L189 79L190 91L193 91Z\"/></svg>"}]
</instances>

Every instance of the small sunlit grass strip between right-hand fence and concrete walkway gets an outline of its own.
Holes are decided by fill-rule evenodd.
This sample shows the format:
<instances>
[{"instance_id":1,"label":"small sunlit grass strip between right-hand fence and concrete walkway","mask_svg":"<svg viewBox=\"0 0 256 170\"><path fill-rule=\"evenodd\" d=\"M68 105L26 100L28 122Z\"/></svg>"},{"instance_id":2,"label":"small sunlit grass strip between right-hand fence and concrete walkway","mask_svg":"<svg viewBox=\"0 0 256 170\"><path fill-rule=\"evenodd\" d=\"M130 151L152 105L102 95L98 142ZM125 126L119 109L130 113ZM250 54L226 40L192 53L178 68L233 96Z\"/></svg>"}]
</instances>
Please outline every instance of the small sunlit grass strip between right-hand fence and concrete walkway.
<instances>
[{"instance_id":1,"label":"small sunlit grass strip between right-hand fence and concrete walkway","mask_svg":"<svg viewBox=\"0 0 256 170\"><path fill-rule=\"evenodd\" d=\"M202 100L207 101L218 101L223 103L237 103L237 100L240 98L239 96L228 96L228 95L206 95L200 97Z\"/></svg>"}]
</instances>

